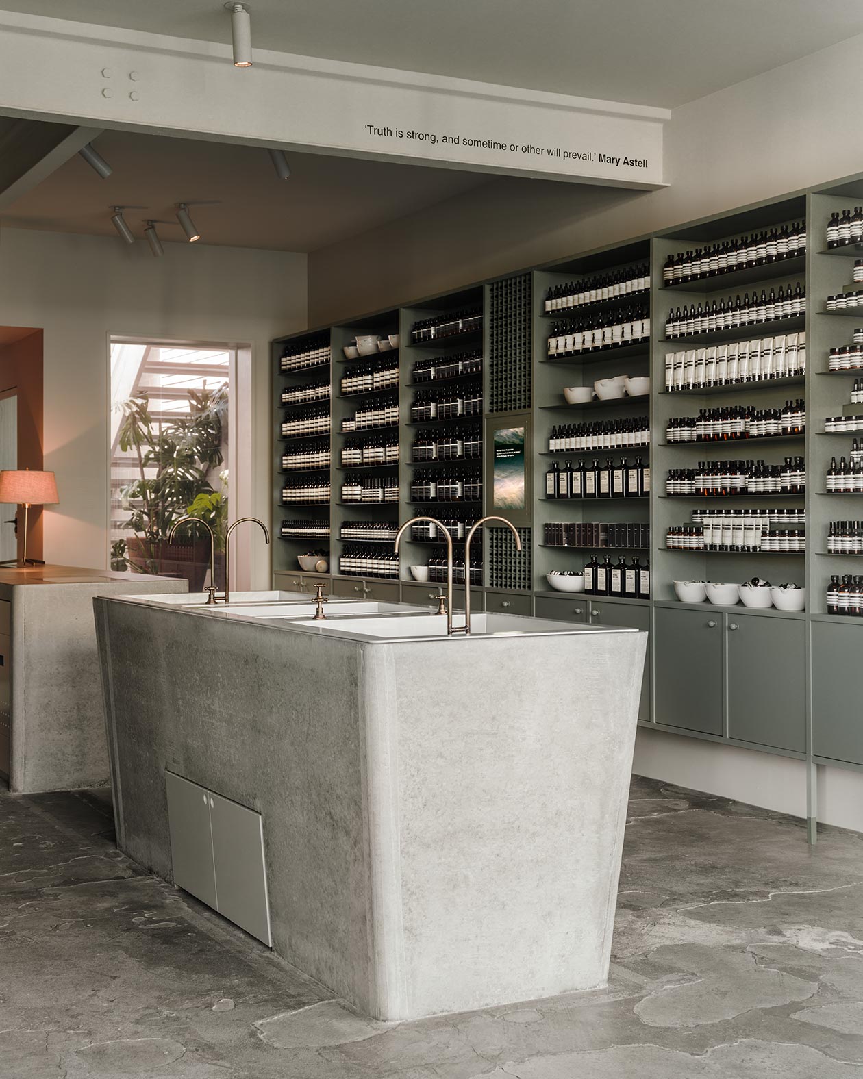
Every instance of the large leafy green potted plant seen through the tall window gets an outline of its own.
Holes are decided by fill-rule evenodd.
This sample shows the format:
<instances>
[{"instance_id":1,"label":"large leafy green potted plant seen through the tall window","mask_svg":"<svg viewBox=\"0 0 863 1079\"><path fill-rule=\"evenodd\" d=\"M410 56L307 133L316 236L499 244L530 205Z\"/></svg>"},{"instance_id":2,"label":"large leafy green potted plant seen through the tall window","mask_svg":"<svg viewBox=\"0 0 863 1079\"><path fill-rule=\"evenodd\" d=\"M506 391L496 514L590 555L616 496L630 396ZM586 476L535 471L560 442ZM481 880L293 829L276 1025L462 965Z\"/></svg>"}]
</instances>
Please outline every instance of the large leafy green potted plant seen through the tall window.
<instances>
[{"instance_id":1,"label":"large leafy green potted plant seen through the tall window","mask_svg":"<svg viewBox=\"0 0 863 1079\"><path fill-rule=\"evenodd\" d=\"M130 569L183 576L192 591L200 591L210 565L208 537L195 537L192 528L173 541L167 536L200 495L216 494L207 476L224 460L227 386L190 391L189 406L187 415L160 424L153 421L146 396L130 398L120 406L118 446L133 454L138 470L121 492L130 510L123 527L135 533L126 541Z\"/></svg>"}]
</instances>

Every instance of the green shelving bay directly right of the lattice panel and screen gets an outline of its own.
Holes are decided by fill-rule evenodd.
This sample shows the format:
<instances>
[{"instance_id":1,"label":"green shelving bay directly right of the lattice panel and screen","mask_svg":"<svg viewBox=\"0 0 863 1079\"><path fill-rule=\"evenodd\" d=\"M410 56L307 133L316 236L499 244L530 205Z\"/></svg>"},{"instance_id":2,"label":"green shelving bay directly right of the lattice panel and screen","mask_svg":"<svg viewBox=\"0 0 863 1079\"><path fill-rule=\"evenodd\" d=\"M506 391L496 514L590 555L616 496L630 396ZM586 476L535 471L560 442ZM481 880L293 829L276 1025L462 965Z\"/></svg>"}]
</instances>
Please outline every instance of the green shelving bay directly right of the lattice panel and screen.
<instances>
[{"instance_id":1,"label":"green shelving bay directly right of the lattice panel and screen","mask_svg":"<svg viewBox=\"0 0 863 1079\"><path fill-rule=\"evenodd\" d=\"M552 570L582 570L594 556L603 552L612 557L615 551L628 557L628 561L637 557L642 563L649 560L650 550L645 548L605 547L593 550L588 547L557 546L544 542L547 524L586 523L603 521L609 524L648 524L650 520L650 498L617 497L617 498L549 498L545 496L547 472L552 463L567 461L590 461L596 457L606 461L621 461L626 457L633 462L640 456L649 466L650 446L628 447L602 450L580 450L552 453L548 450L549 438L553 427L561 424L579 424L594 422L613 422L644 414L648 415L651 408L650 395L622 397L611 400L593 400L584 405L568 405L563 396L564 386L592 385L598 379L626 374L631 377L648 375L650 373L650 338L635 343L603 349L582 351L567 356L549 356L548 339L555 320L561 324L571 323L582 315L594 317L604 311L613 311L628 303L648 305L653 302L651 287L633 295L631 299L622 297L619 303L606 301L603 304L591 305L583 311L574 309L569 312L558 312L558 318L545 316L544 301L550 288L568 285L603 275L617 270L635 272L636 268L647 265L650 274L650 242L636 241L629 244L617 244L603 247L580 258L556 263L543 271L534 273L534 432L537 452L534 456L534 587L537 596L554 597L556 599L577 599L579 593L549 590L547 574ZM599 597L593 597L598 600ZM602 597L608 600L609 597ZM633 603L633 600L625 602ZM647 601L645 600L646 604Z\"/></svg>"}]
</instances>

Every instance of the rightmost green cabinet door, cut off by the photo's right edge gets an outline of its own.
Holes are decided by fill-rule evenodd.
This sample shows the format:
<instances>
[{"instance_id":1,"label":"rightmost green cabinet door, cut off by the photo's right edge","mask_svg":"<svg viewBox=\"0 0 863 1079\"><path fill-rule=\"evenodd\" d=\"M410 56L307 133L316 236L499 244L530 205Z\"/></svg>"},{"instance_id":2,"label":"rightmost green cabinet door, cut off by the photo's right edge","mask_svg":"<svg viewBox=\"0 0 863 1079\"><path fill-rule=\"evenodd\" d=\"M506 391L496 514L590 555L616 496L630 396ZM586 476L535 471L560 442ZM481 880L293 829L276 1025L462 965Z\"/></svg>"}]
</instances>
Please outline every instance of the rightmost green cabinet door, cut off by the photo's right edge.
<instances>
[{"instance_id":1,"label":"rightmost green cabinet door, cut off by the photo's right edge","mask_svg":"<svg viewBox=\"0 0 863 1079\"><path fill-rule=\"evenodd\" d=\"M863 626L812 623L812 752L863 764Z\"/></svg>"}]
</instances>

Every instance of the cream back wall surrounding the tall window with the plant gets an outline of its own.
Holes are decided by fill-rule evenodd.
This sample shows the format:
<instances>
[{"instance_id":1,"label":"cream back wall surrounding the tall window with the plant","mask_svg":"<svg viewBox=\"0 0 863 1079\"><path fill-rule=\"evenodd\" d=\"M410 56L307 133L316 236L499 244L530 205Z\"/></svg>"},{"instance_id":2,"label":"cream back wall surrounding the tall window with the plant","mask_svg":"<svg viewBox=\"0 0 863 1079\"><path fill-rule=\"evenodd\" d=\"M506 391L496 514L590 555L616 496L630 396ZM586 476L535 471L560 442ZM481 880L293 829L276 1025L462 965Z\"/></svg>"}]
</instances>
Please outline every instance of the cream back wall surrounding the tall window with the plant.
<instances>
[{"instance_id":1,"label":"cream back wall surrounding the tall window with the plant","mask_svg":"<svg viewBox=\"0 0 863 1079\"><path fill-rule=\"evenodd\" d=\"M273 337L306 325L306 256L0 229L0 325L44 329L44 450L59 505L44 513L44 557L103 569L108 555L108 345L112 334L252 346L251 508L270 521ZM254 587L269 552L252 545Z\"/></svg>"}]
</instances>

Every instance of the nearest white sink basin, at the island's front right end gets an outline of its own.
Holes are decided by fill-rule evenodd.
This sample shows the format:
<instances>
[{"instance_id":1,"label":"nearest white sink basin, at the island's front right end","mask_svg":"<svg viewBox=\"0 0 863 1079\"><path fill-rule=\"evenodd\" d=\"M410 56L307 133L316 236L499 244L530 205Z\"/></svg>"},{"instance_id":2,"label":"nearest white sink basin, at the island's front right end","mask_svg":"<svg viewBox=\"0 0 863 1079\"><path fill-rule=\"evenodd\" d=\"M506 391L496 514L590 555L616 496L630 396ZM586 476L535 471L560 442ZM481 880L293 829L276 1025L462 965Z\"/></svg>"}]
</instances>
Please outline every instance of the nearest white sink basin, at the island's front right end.
<instances>
[{"instance_id":1,"label":"nearest white sink basin, at the island's front right end","mask_svg":"<svg viewBox=\"0 0 863 1079\"><path fill-rule=\"evenodd\" d=\"M400 607L406 611L404 604ZM359 613L359 612L358 612ZM375 640L403 641L405 639L426 640L446 637L446 618L437 614L404 614L385 615L379 618L353 618L353 612L334 622L300 622L293 625L319 630L322 633L368 638ZM464 616L457 614L456 627L464 624ZM568 622L553 622L551 618L527 618L514 614L474 614L471 615L471 637L525 637L536 633L596 633L622 632L635 630L623 627L577 626ZM453 640L463 640L466 634L458 634Z\"/></svg>"}]
</instances>

